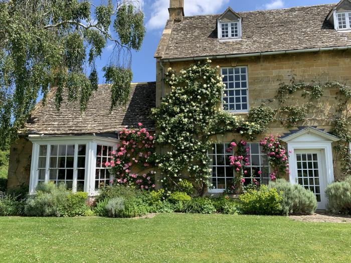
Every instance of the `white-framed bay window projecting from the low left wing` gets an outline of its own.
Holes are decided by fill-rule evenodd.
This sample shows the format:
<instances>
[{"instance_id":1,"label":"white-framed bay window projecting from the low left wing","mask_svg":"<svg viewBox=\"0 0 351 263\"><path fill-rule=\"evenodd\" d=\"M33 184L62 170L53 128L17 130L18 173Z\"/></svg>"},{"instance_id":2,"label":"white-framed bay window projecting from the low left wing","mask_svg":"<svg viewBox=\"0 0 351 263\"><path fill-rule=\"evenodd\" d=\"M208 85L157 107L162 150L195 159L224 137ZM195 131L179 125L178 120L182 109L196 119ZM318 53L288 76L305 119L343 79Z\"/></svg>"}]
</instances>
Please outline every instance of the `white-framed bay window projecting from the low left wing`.
<instances>
[{"instance_id":1,"label":"white-framed bay window projecting from the low left wing","mask_svg":"<svg viewBox=\"0 0 351 263\"><path fill-rule=\"evenodd\" d=\"M30 193L39 183L65 183L73 192L98 192L109 185L105 163L118 140L98 136L30 136L33 143Z\"/></svg>"}]
</instances>

